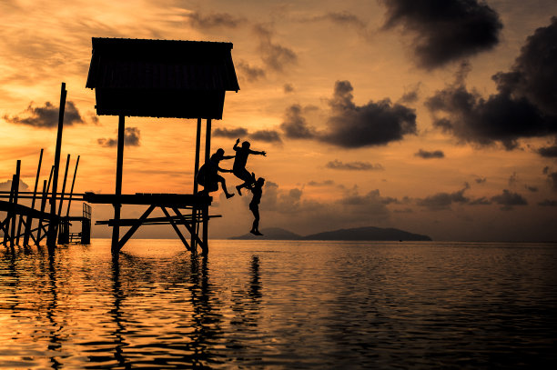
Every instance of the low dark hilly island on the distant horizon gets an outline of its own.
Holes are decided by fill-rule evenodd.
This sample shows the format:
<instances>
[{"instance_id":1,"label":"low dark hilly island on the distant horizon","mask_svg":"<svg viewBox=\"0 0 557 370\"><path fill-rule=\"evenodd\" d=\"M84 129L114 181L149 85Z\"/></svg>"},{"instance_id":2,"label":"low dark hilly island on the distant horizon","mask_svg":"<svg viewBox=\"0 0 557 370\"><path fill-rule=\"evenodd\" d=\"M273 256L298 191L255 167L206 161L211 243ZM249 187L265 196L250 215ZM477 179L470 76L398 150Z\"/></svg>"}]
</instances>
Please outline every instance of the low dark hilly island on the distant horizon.
<instances>
[{"instance_id":1,"label":"low dark hilly island on the distant horizon","mask_svg":"<svg viewBox=\"0 0 557 370\"><path fill-rule=\"evenodd\" d=\"M381 227L357 227L352 229L339 229L334 231L327 231L312 235L298 235L292 233L288 230L271 227L268 229L262 229L261 233L263 236L256 236L252 234L245 234L239 236L232 236L228 239L236 240L251 240L251 239L263 239L263 240L348 240L348 241L358 241L358 240L369 240L369 241L430 241L432 240L428 235L420 235L409 233L408 231L403 231L394 228L381 228Z\"/></svg>"}]
</instances>

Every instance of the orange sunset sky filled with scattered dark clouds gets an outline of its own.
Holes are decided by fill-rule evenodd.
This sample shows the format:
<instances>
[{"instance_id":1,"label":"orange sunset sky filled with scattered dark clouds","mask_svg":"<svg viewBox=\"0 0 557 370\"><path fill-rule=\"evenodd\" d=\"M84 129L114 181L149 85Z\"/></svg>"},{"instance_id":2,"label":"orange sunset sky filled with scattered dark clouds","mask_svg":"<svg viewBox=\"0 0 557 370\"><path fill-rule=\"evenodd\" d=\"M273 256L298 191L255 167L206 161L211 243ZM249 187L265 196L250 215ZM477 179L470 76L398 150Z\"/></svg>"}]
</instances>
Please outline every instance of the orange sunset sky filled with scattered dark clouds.
<instances>
[{"instance_id":1,"label":"orange sunset sky filled with scattered dark clouds","mask_svg":"<svg viewBox=\"0 0 557 370\"><path fill-rule=\"evenodd\" d=\"M17 159L31 189L41 148L52 164L66 82L62 165L80 155L76 192L114 193L117 117L96 116L85 87L91 37L223 41L240 90L213 122L212 152L232 155L239 137L268 153L248 159L267 179L262 229L557 240L554 0L0 0L0 14L3 190ZM128 117L123 192L191 193L195 128ZM211 235L247 233L251 196L213 196Z\"/></svg>"}]
</instances>

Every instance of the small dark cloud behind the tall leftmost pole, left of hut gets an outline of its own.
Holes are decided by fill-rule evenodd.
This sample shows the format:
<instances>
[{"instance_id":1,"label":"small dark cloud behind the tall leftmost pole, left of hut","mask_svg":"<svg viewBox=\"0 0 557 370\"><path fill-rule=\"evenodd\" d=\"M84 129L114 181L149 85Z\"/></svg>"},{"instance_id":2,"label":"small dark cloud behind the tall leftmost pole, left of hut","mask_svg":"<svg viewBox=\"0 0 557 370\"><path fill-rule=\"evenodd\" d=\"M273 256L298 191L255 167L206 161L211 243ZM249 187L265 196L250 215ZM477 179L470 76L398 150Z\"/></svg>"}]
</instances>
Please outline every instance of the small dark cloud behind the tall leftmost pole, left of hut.
<instances>
[{"instance_id":1,"label":"small dark cloud behind the tall leftmost pole, left of hut","mask_svg":"<svg viewBox=\"0 0 557 370\"><path fill-rule=\"evenodd\" d=\"M27 109L20 115L4 115L6 122L15 125L30 125L38 128L56 128L58 126L59 109L57 106L46 102L43 106L33 106L29 103ZM64 125L85 124L84 119L79 115L76 105L72 101L66 101L64 110Z\"/></svg>"}]
</instances>

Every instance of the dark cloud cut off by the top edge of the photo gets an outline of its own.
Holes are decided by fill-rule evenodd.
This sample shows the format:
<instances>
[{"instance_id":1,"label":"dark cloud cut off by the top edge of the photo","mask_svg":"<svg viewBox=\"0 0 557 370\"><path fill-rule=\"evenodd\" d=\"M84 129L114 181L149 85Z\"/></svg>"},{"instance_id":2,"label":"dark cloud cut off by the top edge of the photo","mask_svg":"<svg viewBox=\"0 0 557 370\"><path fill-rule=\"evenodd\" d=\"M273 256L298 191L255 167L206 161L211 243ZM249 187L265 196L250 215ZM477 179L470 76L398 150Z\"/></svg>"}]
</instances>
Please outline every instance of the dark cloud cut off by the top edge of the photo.
<instances>
[{"instance_id":1,"label":"dark cloud cut off by the top edge of the photo","mask_svg":"<svg viewBox=\"0 0 557 370\"><path fill-rule=\"evenodd\" d=\"M499 43L499 15L477 0L383 0L385 28L415 35L418 65L432 69L490 50Z\"/></svg>"}]
</instances>

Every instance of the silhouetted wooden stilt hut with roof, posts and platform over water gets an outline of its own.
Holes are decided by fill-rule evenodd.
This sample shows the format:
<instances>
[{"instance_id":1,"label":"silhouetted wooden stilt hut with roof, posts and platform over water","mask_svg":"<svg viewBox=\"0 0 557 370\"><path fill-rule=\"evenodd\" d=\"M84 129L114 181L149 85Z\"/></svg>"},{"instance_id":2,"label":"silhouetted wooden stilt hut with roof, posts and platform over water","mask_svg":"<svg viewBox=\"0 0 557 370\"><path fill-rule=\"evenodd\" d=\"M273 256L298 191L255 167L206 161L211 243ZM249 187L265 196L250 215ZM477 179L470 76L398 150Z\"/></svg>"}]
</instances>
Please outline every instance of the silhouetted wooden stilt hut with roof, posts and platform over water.
<instances>
[{"instance_id":1,"label":"silhouetted wooden stilt hut with roof, posts and platform over water","mask_svg":"<svg viewBox=\"0 0 557 370\"><path fill-rule=\"evenodd\" d=\"M96 114L118 115L119 125L116 192L114 195L86 194L86 199L90 203L114 205L114 219L105 222L113 227L113 251L124 246L139 225L154 223L172 225L189 248L177 227L185 225L191 234L192 246L198 243L204 252L208 251L208 205L212 198L197 195L195 181L192 195L122 196L124 117L197 118L194 165L197 175L201 119L207 120L205 160L208 161L211 119L222 118L225 92L238 92L239 89L231 49L230 43L93 38L93 56L86 87L95 89ZM150 206L139 219L121 220L120 206L123 203ZM160 217L157 221L147 218L155 207L160 207L167 216L164 221L160 221ZM172 209L175 215L169 215L167 208ZM191 208L191 215L182 215L181 208ZM202 239L197 235L199 222L204 225ZM131 227L119 239L119 227L124 225ZM195 247L192 250L195 251Z\"/></svg>"}]
</instances>

